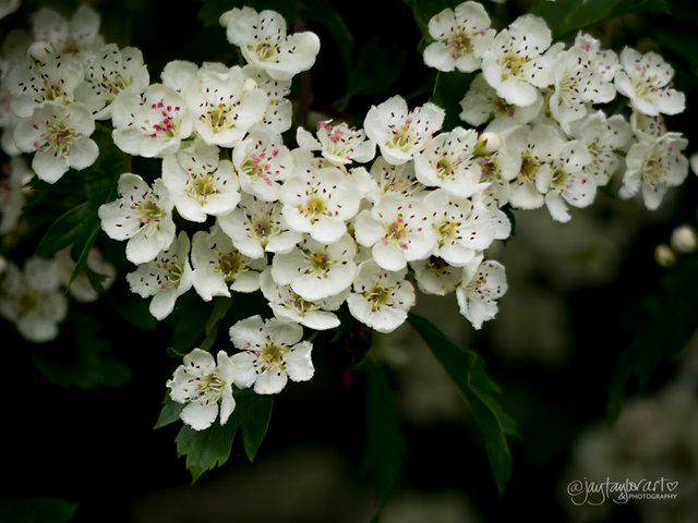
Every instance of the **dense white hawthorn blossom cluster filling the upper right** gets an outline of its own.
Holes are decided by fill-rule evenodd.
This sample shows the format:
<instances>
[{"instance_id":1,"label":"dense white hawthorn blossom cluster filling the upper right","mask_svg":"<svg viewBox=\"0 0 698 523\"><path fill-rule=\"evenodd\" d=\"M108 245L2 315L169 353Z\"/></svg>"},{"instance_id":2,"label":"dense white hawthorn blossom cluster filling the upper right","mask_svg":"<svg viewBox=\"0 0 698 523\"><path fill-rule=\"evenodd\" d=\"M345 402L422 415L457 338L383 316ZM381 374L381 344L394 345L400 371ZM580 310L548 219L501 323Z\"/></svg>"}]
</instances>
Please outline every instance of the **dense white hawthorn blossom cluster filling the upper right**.
<instances>
[{"instance_id":1,"label":"dense white hawthorn blossom cluster filling the upper right","mask_svg":"<svg viewBox=\"0 0 698 523\"><path fill-rule=\"evenodd\" d=\"M685 96L672 87L674 71L661 56L630 47L617 56L585 33L569 47L553 44L532 14L497 33L473 1L432 17L429 33L426 65L477 73L460 119L500 138L479 159L480 181L497 206L545 205L564 222L569 206L587 207L618 174L621 198L641 193L655 209L686 179L687 141L663 119L685 109ZM612 102L629 106L630 115L607 115Z\"/></svg>"}]
</instances>

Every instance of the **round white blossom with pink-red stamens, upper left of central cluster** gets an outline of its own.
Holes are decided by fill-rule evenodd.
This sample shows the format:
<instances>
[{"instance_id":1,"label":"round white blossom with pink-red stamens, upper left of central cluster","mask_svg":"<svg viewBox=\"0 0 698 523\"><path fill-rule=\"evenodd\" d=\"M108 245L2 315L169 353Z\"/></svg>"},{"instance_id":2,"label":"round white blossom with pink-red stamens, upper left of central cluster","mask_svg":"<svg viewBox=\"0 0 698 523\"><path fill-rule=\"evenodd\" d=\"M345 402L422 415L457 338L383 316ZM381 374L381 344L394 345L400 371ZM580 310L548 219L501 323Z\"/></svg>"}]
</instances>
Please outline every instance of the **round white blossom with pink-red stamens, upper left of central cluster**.
<instances>
[{"instance_id":1,"label":"round white blossom with pink-red stamens, upper left of central cluster","mask_svg":"<svg viewBox=\"0 0 698 523\"><path fill-rule=\"evenodd\" d=\"M184 99L163 84L152 84L143 94L122 93L111 105L111 122L115 144L146 158L176 153L193 130Z\"/></svg>"}]
</instances>

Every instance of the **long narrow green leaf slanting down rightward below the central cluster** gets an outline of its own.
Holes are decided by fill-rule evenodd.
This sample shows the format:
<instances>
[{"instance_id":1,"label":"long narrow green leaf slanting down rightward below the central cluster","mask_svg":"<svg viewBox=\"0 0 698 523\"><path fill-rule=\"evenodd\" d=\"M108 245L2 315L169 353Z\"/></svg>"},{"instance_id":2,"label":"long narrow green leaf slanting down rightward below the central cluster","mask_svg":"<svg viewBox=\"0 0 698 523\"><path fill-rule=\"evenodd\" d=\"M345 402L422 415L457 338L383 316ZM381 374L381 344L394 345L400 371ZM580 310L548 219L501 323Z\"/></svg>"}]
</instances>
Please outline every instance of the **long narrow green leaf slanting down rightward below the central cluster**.
<instances>
[{"instance_id":1,"label":"long narrow green leaf slanting down rightward below the central cluster","mask_svg":"<svg viewBox=\"0 0 698 523\"><path fill-rule=\"evenodd\" d=\"M517 436L517 431L516 423L495 397L500 388L488 376L484 361L478 353L456 345L426 318L410 314L408 320L453 378L470 408L484 438L490 467L502 496L513 467L506 437Z\"/></svg>"}]
</instances>

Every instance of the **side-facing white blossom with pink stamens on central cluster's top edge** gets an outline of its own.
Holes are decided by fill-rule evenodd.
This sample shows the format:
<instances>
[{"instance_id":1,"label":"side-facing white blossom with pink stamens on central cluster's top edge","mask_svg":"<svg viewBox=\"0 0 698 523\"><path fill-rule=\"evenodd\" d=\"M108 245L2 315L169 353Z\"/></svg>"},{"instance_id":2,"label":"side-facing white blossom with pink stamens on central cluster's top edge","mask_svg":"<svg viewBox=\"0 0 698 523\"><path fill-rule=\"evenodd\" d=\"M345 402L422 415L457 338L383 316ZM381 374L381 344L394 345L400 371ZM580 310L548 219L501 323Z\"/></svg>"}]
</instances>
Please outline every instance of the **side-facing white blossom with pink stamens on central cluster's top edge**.
<instances>
[{"instance_id":1,"label":"side-facing white blossom with pink stamens on central cluster's top edge","mask_svg":"<svg viewBox=\"0 0 698 523\"><path fill-rule=\"evenodd\" d=\"M375 156L375 143L366 139L361 129L350 127L346 122L332 124L325 120L317 124L317 138L303 127L296 130L299 147L306 150L320 150L329 161L337 166L346 166L352 161L365 163Z\"/></svg>"}]
</instances>

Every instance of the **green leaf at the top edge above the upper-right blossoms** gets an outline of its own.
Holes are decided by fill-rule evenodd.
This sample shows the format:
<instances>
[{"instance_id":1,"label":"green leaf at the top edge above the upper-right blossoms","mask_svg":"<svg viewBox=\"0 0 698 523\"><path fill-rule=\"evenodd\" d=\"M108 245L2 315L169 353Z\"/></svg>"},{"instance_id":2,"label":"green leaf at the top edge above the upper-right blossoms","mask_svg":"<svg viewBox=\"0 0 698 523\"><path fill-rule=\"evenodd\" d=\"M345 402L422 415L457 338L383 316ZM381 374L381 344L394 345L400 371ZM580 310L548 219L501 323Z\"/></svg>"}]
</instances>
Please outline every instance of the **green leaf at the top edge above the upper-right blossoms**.
<instances>
[{"instance_id":1,"label":"green leaf at the top edge above the upper-right blossoms","mask_svg":"<svg viewBox=\"0 0 698 523\"><path fill-rule=\"evenodd\" d=\"M669 4L666 0L555 0L541 1L530 12L545 19L558 40L623 14L669 13Z\"/></svg>"}]
</instances>

